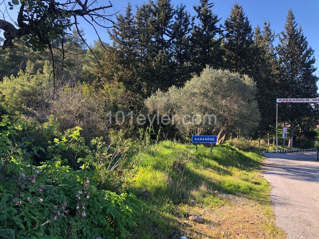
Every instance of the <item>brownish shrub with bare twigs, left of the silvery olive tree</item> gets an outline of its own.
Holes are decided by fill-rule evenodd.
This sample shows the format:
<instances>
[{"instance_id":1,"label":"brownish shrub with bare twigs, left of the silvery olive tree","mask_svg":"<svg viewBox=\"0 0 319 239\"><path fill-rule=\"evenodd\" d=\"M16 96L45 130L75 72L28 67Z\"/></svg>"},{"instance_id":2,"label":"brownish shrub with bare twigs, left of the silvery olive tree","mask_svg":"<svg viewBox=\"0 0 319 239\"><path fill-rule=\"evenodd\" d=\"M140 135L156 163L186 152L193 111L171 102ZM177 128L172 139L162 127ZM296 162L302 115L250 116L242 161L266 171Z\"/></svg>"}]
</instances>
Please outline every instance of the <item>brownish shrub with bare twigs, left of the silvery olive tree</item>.
<instances>
[{"instance_id":1,"label":"brownish shrub with bare twigs, left of the silvery olive tree","mask_svg":"<svg viewBox=\"0 0 319 239\"><path fill-rule=\"evenodd\" d=\"M61 129L81 127L81 134L87 143L94 137L107 138L111 128L130 129L128 122L122 126L115 125L115 113L121 110L126 114L128 110L125 89L122 87L111 89L105 85L103 90L96 90L86 83L74 87L66 85L59 96L52 101L50 110L57 117Z\"/></svg>"}]
</instances>

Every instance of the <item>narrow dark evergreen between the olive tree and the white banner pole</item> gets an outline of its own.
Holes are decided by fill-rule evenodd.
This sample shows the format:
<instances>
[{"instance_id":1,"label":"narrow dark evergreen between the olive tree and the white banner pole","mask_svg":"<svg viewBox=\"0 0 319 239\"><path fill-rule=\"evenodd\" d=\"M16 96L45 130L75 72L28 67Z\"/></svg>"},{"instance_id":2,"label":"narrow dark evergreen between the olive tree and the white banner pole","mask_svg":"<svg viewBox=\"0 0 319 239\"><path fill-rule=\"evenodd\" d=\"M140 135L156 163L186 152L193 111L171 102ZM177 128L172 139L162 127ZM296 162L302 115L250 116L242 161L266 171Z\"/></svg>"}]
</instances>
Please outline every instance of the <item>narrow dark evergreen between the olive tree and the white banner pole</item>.
<instances>
[{"instance_id":1,"label":"narrow dark evergreen between the olive tree and the white banner pole","mask_svg":"<svg viewBox=\"0 0 319 239\"><path fill-rule=\"evenodd\" d=\"M261 122L257 129L258 136L268 135L268 145L270 144L269 130L275 122L275 92L278 79L278 64L274 51L273 42L275 33L271 31L270 23L263 23L263 31L259 26L254 33L254 79L257 86L256 100L261 113Z\"/></svg>"}]
</instances>

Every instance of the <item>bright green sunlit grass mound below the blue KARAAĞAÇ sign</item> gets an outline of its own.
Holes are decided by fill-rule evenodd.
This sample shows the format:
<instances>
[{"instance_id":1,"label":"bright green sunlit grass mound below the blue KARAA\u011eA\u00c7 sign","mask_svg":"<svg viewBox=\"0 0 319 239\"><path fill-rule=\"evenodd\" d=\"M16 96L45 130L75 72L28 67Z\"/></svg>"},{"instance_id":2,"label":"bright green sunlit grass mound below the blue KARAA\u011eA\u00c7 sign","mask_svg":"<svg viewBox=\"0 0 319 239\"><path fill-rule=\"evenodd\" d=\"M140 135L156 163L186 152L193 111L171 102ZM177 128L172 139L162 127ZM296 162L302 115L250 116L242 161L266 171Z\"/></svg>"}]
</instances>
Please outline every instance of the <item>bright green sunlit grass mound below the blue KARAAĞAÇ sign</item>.
<instances>
[{"instance_id":1,"label":"bright green sunlit grass mound below the blue KARAA\u011eA\u00c7 sign","mask_svg":"<svg viewBox=\"0 0 319 239\"><path fill-rule=\"evenodd\" d=\"M186 218L182 208L196 205L214 208L227 203L220 193L240 194L263 205L270 204L269 185L259 177L263 156L229 145L209 148L162 141L137 157L137 174L132 191L147 189L145 223L135 238L171 238L178 231L176 217ZM215 193L215 191L218 193ZM166 209L163 209L166 207ZM155 229L154 229L155 228ZM178 235L178 234L177 234Z\"/></svg>"}]
</instances>

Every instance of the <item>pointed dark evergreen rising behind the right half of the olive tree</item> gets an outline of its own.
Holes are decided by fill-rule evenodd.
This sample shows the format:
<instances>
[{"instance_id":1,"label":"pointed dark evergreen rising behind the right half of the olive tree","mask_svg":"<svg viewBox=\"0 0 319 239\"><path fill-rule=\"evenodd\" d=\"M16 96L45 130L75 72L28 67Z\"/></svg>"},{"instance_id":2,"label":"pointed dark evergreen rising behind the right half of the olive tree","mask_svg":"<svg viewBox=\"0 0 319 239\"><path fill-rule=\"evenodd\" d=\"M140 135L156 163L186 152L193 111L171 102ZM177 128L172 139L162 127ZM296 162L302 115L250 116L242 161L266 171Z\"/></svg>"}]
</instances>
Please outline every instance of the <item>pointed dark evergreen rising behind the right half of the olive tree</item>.
<instances>
[{"instance_id":1,"label":"pointed dark evergreen rising behind the right half of the olive tree","mask_svg":"<svg viewBox=\"0 0 319 239\"><path fill-rule=\"evenodd\" d=\"M241 6L234 4L225 20L225 67L240 74L253 77L253 33Z\"/></svg>"}]
</instances>

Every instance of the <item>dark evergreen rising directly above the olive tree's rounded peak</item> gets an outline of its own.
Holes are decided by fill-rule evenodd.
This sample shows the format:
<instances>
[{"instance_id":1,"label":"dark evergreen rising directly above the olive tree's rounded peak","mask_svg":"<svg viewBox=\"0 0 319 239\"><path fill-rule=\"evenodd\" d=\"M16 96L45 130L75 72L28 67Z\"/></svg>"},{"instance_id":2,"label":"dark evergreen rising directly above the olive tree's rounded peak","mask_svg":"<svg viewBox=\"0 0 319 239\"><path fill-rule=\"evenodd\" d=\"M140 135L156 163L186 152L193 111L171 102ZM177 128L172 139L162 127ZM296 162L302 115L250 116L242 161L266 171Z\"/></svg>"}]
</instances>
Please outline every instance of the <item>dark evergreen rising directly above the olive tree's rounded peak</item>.
<instances>
[{"instance_id":1,"label":"dark evergreen rising directly above the olive tree's rounded peak","mask_svg":"<svg viewBox=\"0 0 319 239\"><path fill-rule=\"evenodd\" d=\"M213 6L214 3L208 3L208 0L200 0L200 5L194 6L198 23L196 25L193 24L191 44L192 65L197 74L206 65L216 69L221 66L222 62L220 53L221 39L218 39L221 29L217 26L220 18L213 13ZM193 18L194 20L195 18Z\"/></svg>"}]
</instances>

